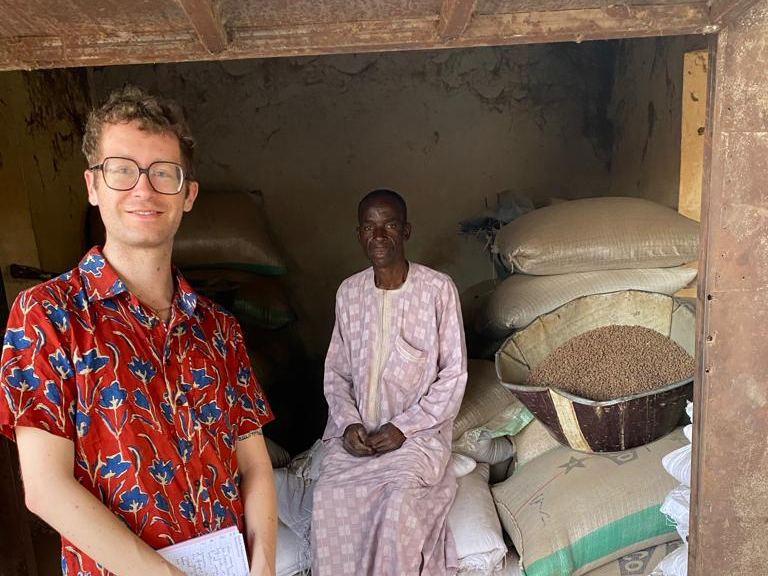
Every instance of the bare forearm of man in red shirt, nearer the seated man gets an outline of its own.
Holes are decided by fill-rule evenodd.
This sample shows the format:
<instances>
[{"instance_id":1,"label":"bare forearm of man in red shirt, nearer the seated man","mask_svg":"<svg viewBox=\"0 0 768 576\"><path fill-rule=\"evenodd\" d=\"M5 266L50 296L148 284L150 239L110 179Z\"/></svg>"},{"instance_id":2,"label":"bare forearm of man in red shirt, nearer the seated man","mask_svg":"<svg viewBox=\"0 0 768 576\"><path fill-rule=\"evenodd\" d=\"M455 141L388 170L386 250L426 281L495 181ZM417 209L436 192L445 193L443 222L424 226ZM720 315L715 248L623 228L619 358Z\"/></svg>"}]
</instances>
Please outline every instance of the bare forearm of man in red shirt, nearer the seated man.
<instances>
[{"instance_id":1,"label":"bare forearm of man in red shirt, nearer the seated man","mask_svg":"<svg viewBox=\"0 0 768 576\"><path fill-rule=\"evenodd\" d=\"M242 477L240 497L245 513L251 576L274 576L277 541L277 497L272 463L261 431L238 440L237 461Z\"/></svg>"}]
</instances>

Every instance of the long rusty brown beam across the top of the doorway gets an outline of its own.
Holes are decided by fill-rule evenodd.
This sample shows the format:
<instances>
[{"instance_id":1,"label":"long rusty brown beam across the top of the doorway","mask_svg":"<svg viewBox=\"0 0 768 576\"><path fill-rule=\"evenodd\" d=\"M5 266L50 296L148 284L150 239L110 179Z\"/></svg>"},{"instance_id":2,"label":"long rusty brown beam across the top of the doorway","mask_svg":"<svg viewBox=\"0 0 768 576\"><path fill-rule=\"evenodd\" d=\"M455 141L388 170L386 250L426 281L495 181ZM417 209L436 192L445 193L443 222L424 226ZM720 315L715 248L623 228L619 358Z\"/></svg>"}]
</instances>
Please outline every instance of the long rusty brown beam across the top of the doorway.
<instances>
[{"instance_id":1,"label":"long rusty brown beam across the top of the doorway","mask_svg":"<svg viewBox=\"0 0 768 576\"><path fill-rule=\"evenodd\" d=\"M701 2L659 6L475 15L454 40L438 34L438 16L386 21L232 28L227 48L211 53L192 32L130 32L115 36L0 40L0 70L304 56L542 42L604 40L718 30Z\"/></svg>"}]
</instances>

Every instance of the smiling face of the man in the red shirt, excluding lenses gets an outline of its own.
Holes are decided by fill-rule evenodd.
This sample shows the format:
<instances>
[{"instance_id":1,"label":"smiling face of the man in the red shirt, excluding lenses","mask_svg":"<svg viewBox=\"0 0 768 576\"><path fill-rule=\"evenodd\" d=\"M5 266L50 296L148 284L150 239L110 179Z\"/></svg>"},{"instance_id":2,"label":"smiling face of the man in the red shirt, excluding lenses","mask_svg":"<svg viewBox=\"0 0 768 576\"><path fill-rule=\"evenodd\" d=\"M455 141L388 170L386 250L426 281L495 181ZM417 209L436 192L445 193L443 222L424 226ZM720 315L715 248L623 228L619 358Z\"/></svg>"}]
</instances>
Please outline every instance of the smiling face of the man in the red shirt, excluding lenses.
<instances>
[{"instance_id":1,"label":"smiling face of the man in the red shirt, excluding lenses","mask_svg":"<svg viewBox=\"0 0 768 576\"><path fill-rule=\"evenodd\" d=\"M141 168L157 161L184 165L175 135L142 131L136 122L105 124L102 128L98 163L114 156L130 158ZM187 181L178 194L160 194L152 189L146 174L130 190L112 190L100 170L86 170L85 182L88 201L99 207L107 243L129 248L172 244L181 217L192 209L198 190L197 182Z\"/></svg>"}]
</instances>

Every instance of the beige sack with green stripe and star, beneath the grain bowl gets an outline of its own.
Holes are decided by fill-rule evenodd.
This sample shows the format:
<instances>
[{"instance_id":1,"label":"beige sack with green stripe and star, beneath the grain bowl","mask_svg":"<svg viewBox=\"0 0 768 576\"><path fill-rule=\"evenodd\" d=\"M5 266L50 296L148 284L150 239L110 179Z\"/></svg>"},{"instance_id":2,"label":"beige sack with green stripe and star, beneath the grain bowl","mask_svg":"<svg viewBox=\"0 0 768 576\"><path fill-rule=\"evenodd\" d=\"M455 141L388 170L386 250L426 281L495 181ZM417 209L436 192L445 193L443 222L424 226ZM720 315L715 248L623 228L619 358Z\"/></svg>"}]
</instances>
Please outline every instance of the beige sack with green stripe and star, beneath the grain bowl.
<instances>
[{"instance_id":1,"label":"beige sack with green stripe and star, beneath the grain bowl","mask_svg":"<svg viewBox=\"0 0 768 576\"><path fill-rule=\"evenodd\" d=\"M491 488L527 576L581 576L677 539L660 512L676 483L661 458L686 443L682 430L625 452L565 447L528 462Z\"/></svg>"}]
</instances>

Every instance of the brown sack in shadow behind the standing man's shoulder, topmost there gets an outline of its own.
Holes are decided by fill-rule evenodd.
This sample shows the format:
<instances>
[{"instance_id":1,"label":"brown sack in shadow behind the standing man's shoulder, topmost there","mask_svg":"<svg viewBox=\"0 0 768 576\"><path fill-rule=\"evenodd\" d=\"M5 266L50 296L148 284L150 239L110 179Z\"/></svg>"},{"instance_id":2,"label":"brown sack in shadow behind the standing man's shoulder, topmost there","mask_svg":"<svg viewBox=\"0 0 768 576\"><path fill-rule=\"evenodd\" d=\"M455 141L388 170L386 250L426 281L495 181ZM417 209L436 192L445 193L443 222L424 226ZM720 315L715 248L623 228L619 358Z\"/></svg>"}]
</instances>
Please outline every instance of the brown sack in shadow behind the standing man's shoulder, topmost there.
<instances>
[{"instance_id":1,"label":"brown sack in shadow behind the standing man's shoulder, topmost there","mask_svg":"<svg viewBox=\"0 0 768 576\"><path fill-rule=\"evenodd\" d=\"M260 192L201 192L181 221L173 262L269 275L285 272L269 238Z\"/></svg>"}]
</instances>

